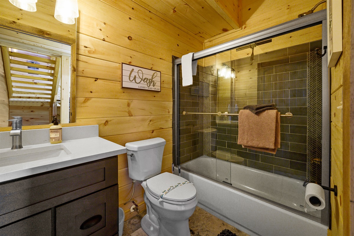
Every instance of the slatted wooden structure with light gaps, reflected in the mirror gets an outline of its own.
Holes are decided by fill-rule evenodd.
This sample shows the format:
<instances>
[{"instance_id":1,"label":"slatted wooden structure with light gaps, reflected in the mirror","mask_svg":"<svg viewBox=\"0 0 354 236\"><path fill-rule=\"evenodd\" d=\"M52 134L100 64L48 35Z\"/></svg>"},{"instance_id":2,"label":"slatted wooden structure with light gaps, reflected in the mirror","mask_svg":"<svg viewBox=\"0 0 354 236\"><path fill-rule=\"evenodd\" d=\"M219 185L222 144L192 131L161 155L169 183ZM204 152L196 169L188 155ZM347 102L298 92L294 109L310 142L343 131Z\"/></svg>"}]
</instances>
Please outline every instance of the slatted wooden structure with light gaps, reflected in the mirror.
<instances>
[{"instance_id":1,"label":"slatted wooden structure with light gaps, reflected in the mirror","mask_svg":"<svg viewBox=\"0 0 354 236\"><path fill-rule=\"evenodd\" d=\"M49 107L57 95L60 57L1 46L9 102Z\"/></svg>"}]
</instances>

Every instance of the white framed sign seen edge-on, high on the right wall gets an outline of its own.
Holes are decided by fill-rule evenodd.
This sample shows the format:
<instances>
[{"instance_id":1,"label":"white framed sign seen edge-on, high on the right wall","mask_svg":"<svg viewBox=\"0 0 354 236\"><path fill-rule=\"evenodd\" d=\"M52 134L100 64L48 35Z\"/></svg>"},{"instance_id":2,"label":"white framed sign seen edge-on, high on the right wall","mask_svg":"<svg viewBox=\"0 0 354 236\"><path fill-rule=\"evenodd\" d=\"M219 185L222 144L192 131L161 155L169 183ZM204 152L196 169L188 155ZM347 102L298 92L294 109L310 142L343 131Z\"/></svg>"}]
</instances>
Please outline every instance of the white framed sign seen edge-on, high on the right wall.
<instances>
[{"instance_id":1,"label":"white framed sign seen edge-on, high on the right wall","mask_svg":"<svg viewBox=\"0 0 354 236\"><path fill-rule=\"evenodd\" d=\"M328 68L335 67L343 51L342 0L327 0Z\"/></svg>"}]
</instances>

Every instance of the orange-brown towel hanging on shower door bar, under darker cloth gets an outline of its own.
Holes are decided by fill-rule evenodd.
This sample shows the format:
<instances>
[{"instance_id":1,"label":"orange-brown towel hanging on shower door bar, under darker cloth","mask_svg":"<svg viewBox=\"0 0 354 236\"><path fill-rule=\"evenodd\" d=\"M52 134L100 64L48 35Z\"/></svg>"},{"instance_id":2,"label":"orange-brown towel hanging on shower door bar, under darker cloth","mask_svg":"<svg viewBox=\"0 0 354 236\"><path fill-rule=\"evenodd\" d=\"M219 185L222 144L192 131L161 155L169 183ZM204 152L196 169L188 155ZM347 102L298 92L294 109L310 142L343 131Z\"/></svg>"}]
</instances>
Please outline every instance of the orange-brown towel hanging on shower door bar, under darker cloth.
<instances>
[{"instance_id":1,"label":"orange-brown towel hanging on shower door bar, under darker cloth","mask_svg":"<svg viewBox=\"0 0 354 236\"><path fill-rule=\"evenodd\" d=\"M240 110L237 143L274 153L280 148L280 113L277 110L265 110L254 115L249 110Z\"/></svg>"}]
</instances>

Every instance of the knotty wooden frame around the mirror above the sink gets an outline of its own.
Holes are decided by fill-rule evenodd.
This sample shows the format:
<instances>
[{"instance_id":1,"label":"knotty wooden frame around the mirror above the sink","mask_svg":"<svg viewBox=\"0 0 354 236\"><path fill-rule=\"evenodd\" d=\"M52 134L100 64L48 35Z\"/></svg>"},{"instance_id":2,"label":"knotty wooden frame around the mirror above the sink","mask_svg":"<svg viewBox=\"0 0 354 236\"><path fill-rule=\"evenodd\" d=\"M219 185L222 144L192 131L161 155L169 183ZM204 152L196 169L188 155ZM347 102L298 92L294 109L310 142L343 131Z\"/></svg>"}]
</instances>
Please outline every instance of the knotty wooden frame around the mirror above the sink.
<instances>
[{"instance_id":1,"label":"knotty wooden frame around the mirror above the sink","mask_svg":"<svg viewBox=\"0 0 354 236\"><path fill-rule=\"evenodd\" d=\"M70 82L70 123L63 126L75 126L76 122L76 38L70 38L47 30L42 30L30 25L22 24L0 17L0 29L10 29L20 33L33 35L47 40L53 40L71 46L71 82ZM76 28L76 23L75 23ZM75 32L76 35L76 32ZM49 128L51 125L22 126L22 129ZM11 127L0 127L1 131L10 131Z\"/></svg>"}]
</instances>

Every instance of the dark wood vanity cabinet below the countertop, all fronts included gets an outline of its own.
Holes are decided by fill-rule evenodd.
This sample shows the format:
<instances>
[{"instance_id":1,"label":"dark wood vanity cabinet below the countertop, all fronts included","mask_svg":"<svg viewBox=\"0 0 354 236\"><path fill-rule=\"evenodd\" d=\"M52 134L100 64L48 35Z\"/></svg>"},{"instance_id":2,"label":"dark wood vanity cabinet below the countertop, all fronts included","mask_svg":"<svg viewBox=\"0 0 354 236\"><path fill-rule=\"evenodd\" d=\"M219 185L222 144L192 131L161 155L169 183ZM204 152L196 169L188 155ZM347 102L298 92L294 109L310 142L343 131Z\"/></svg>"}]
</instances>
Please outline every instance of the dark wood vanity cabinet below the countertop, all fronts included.
<instances>
[{"instance_id":1,"label":"dark wood vanity cabinet below the countertop, all fronts included","mask_svg":"<svg viewBox=\"0 0 354 236\"><path fill-rule=\"evenodd\" d=\"M0 184L1 236L111 236L117 222L116 156Z\"/></svg>"}]
</instances>

